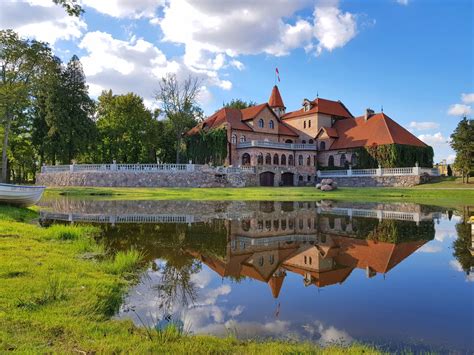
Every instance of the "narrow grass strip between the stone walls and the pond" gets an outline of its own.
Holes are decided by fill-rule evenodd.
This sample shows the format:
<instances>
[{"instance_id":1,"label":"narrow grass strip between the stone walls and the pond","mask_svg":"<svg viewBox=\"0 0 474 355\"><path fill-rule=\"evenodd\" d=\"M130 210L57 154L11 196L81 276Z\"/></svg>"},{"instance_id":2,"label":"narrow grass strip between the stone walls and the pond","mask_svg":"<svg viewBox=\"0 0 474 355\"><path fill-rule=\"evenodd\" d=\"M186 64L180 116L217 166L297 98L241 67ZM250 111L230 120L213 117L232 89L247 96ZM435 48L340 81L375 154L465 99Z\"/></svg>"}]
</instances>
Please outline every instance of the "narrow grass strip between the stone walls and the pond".
<instances>
[{"instance_id":1,"label":"narrow grass strip between the stone walls and the pond","mask_svg":"<svg viewBox=\"0 0 474 355\"><path fill-rule=\"evenodd\" d=\"M277 200L311 201L320 199L367 202L414 202L443 207L474 204L471 188L452 188L455 182L426 184L413 188L339 188L322 192L314 187L248 188L63 188L48 189L47 196L67 195L106 199L138 200ZM456 184L458 186L458 184Z\"/></svg>"}]
</instances>

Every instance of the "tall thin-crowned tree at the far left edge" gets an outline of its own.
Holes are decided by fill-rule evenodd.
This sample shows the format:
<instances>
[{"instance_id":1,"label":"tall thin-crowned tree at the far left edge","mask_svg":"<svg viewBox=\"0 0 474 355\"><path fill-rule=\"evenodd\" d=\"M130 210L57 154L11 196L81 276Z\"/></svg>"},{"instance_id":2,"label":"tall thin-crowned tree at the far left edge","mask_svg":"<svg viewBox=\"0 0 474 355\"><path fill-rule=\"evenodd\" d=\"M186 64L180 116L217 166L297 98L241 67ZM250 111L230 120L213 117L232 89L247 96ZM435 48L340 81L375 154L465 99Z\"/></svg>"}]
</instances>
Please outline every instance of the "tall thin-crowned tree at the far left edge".
<instances>
[{"instance_id":1,"label":"tall thin-crowned tree at the far left edge","mask_svg":"<svg viewBox=\"0 0 474 355\"><path fill-rule=\"evenodd\" d=\"M21 39L12 30L0 31L1 181L6 181L8 176L8 147L13 121L28 107L31 80L50 56L51 51L46 44Z\"/></svg>"}]
</instances>

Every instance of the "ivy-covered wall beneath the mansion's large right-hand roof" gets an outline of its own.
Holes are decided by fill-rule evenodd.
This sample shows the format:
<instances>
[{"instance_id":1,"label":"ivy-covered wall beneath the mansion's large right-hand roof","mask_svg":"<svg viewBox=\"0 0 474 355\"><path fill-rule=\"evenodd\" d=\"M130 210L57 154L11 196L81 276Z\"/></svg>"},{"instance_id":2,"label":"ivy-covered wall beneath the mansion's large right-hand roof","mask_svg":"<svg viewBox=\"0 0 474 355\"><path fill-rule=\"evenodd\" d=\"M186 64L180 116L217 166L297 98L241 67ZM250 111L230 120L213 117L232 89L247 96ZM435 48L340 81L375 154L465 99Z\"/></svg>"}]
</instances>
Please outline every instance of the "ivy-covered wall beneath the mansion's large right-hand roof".
<instances>
[{"instance_id":1,"label":"ivy-covered wall beneath the mansion's large right-hand roof","mask_svg":"<svg viewBox=\"0 0 474 355\"><path fill-rule=\"evenodd\" d=\"M433 148L416 147L402 144L385 144L372 147L363 147L355 150L358 169L401 168L418 165L433 167Z\"/></svg>"}]
</instances>

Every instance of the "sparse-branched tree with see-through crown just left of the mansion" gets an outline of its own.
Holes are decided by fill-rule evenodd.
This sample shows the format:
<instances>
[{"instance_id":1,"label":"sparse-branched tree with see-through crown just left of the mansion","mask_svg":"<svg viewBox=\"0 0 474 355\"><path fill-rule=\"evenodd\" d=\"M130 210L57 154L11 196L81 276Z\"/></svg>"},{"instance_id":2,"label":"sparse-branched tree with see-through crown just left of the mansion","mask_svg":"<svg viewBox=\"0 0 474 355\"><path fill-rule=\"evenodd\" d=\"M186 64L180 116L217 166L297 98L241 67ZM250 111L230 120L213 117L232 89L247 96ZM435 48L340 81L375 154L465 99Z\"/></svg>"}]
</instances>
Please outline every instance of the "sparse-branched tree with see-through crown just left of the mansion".
<instances>
[{"instance_id":1,"label":"sparse-branched tree with see-through crown just left of the mansion","mask_svg":"<svg viewBox=\"0 0 474 355\"><path fill-rule=\"evenodd\" d=\"M200 91L200 81L189 76L180 83L175 74L168 74L160 81L156 100L163 113L169 119L176 149L176 163L179 164L180 152L183 149L183 135L196 125L202 110L197 103Z\"/></svg>"}]
</instances>

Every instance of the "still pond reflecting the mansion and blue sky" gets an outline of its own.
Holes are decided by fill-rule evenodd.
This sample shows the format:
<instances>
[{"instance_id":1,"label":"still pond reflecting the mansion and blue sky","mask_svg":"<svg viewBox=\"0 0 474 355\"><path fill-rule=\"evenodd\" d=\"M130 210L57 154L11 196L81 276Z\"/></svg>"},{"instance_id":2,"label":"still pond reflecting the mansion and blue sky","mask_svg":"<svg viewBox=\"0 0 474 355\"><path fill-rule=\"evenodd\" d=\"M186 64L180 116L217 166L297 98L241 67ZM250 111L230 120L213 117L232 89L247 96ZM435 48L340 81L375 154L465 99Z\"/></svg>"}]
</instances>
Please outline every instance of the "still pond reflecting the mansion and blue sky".
<instances>
[{"instance_id":1,"label":"still pond reflecting the mansion and blue sky","mask_svg":"<svg viewBox=\"0 0 474 355\"><path fill-rule=\"evenodd\" d=\"M150 267L117 318L193 334L472 353L474 236L409 203L58 198L41 221L95 223Z\"/></svg>"}]
</instances>

